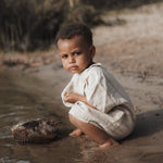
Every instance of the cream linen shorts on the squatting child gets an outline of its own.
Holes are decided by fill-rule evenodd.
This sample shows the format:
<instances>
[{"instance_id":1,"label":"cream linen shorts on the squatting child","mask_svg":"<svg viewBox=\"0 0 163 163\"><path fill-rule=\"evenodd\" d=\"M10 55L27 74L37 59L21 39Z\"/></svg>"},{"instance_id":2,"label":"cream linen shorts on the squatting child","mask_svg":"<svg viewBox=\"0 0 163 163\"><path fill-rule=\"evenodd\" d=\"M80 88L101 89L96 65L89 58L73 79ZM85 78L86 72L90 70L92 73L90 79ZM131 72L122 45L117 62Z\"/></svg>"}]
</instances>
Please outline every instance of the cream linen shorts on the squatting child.
<instances>
[{"instance_id":1,"label":"cream linen shorts on the squatting child","mask_svg":"<svg viewBox=\"0 0 163 163\"><path fill-rule=\"evenodd\" d=\"M104 130L116 140L127 137L135 126L135 114L125 105L115 106L103 113L79 101L72 106L70 114Z\"/></svg>"}]
</instances>

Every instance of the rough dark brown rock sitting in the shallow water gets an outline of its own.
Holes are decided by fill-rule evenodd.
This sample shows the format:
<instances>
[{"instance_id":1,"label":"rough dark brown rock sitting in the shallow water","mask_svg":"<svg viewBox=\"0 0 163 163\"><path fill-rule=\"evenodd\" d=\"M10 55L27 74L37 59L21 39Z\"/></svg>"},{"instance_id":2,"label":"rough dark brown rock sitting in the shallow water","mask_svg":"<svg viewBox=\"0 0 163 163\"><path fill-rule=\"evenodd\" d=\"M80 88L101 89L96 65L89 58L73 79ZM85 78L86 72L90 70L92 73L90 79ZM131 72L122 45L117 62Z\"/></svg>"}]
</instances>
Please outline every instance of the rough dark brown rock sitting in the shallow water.
<instances>
[{"instance_id":1,"label":"rough dark brown rock sitting in the shallow water","mask_svg":"<svg viewBox=\"0 0 163 163\"><path fill-rule=\"evenodd\" d=\"M18 123L12 128L13 137L18 142L42 143L53 140L58 135L58 122L35 120Z\"/></svg>"}]
</instances>

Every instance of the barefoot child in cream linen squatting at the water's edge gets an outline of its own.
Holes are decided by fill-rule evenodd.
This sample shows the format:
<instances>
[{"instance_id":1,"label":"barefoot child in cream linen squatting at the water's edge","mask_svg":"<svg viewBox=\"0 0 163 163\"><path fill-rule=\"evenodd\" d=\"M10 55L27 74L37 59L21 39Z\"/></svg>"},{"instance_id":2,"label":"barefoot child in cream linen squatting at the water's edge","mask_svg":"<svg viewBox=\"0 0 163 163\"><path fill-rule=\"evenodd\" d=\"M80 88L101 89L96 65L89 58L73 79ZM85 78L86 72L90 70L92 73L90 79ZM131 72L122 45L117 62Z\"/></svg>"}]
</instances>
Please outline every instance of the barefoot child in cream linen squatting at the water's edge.
<instances>
[{"instance_id":1,"label":"barefoot child in cream linen squatting at the water's edge","mask_svg":"<svg viewBox=\"0 0 163 163\"><path fill-rule=\"evenodd\" d=\"M70 136L86 134L100 149L117 146L135 126L133 104L116 79L93 62L96 48L90 29L82 24L63 27L57 35L63 67L73 73L62 92L71 108L70 121L76 129Z\"/></svg>"}]
</instances>

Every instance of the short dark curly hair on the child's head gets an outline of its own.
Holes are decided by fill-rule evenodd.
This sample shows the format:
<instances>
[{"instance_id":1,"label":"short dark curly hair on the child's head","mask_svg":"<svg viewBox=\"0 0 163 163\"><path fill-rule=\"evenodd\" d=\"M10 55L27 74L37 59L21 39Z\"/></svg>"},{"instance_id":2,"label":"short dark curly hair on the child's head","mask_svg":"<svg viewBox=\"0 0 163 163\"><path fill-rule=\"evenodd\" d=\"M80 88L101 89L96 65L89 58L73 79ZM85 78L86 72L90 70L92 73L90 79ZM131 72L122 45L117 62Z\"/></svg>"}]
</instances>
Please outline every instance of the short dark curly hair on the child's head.
<instances>
[{"instance_id":1,"label":"short dark curly hair on the child's head","mask_svg":"<svg viewBox=\"0 0 163 163\"><path fill-rule=\"evenodd\" d=\"M58 42L59 39L71 39L75 36L83 36L85 41L89 46L92 46L91 30L86 25L79 24L79 23L73 23L73 24L70 24L70 25L61 28L57 34L55 42Z\"/></svg>"}]
</instances>

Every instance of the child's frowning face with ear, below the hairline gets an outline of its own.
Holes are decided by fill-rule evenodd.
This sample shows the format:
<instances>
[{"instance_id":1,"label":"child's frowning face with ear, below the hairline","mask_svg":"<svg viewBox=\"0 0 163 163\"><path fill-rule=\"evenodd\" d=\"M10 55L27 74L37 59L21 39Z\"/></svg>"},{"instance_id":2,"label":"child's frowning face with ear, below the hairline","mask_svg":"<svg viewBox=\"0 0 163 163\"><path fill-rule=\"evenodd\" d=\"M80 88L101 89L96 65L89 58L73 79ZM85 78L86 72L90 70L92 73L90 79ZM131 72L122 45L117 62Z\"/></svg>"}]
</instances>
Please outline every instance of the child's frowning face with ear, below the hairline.
<instances>
[{"instance_id":1,"label":"child's frowning face with ear, below the hairline","mask_svg":"<svg viewBox=\"0 0 163 163\"><path fill-rule=\"evenodd\" d=\"M59 39L58 48L63 67L78 74L91 64L96 51L95 47L88 46L82 36Z\"/></svg>"}]
</instances>

